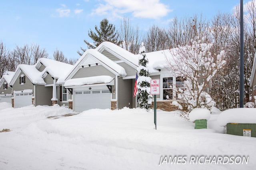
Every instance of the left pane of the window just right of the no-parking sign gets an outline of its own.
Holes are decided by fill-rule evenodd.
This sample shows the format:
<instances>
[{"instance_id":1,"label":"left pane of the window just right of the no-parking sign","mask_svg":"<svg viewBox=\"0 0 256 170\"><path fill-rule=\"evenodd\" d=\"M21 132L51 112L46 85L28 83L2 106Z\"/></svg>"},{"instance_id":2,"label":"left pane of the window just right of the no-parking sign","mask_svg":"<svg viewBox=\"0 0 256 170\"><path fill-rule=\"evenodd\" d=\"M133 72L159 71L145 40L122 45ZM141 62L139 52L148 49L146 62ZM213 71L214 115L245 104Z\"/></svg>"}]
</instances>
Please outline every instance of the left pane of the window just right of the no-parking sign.
<instances>
[{"instance_id":1,"label":"left pane of the window just right of the no-parking sign","mask_svg":"<svg viewBox=\"0 0 256 170\"><path fill-rule=\"evenodd\" d=\"M173 94L173 77L163 78L163 100L172 100Z\"/></svg>"}]
</instances>

